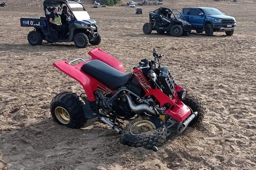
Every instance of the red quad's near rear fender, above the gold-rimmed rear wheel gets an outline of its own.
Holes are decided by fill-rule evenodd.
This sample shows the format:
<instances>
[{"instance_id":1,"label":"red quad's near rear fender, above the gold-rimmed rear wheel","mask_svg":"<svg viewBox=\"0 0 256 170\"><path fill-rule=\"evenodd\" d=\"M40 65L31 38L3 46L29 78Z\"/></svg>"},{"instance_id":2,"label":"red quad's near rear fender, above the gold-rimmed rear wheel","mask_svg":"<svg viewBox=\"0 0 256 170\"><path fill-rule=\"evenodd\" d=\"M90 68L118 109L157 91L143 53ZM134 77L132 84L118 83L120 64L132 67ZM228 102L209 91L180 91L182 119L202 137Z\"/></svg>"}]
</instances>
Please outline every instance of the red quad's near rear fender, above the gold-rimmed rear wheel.
<instances>
[{"instance_id":1,"label":"red quad's near rear fender, above the gold-rimmed rear wheel","mask_svg":"<svg viewBox=\"0 0 256 170\"><path fill-rule=\"evenodd\" d=\"M83 64L71 66L66 61L57 61L53 63L53 66L77 80L83 86L88 100L92 102L95 100L93 92L97 90L97 84L92 77L80 71L80 68Z\"/></svg>"}]
</instances>

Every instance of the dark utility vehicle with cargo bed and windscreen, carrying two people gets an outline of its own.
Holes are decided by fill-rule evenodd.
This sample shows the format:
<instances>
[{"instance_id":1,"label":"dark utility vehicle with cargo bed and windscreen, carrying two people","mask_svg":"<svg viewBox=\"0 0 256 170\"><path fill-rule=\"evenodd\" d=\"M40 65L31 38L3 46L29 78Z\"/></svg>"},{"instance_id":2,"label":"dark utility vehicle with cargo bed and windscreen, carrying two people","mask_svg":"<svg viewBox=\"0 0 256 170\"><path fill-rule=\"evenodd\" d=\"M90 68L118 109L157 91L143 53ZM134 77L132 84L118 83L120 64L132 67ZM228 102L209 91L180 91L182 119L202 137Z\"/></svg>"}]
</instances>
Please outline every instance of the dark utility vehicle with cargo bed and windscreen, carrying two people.
<instances>
[{"instance_id":1,"label":"dark utility vehicle with cargo bed and windscreen, carrying two people","mask_svg":"<svg viewBox=\"0 0 256 170\"><path fill-rule=\"evenodd\" d=\"M60 13L63 7L69 9L70 17L68 21L69 32L62 37L63 30L53 29L50 23L51 9L55 7ZM96 21L92 20L83 7L83 4L75 0L45 0L45 17L20 18L22 27L34 27L28 33L28 42L32 46L41 45L42 40L47 42L71 42L74 41L78 48L85 48L91 45L99 45L101 36L97 32Z\"/></svg>"}]
</instances>

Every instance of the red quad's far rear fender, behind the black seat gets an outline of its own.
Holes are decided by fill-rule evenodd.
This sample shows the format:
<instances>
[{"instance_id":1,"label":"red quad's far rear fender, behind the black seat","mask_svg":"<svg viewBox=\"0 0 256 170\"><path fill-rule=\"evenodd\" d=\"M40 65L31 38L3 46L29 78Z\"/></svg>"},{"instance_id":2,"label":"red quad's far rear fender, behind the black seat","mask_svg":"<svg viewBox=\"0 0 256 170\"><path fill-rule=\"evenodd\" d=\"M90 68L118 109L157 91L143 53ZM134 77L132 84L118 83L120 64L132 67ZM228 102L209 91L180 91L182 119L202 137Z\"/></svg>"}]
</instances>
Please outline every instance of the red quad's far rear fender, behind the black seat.
<instances>
[{"instance_id":1,"label":"red quad's far rear fender, behind the black seat","mask_svg":"<svg viewBox=\"0 0 256 170\"><path fill-rule=\"evenodd\" d=\"M107 54L106 52L102 51L100 48L94 48L93 50L89 51L88 54L92 56L93 60L100 60L105 62L109 66L125 73L125 69L123 64L114 58L112 55Z\"/></svg>"}]
</instances>

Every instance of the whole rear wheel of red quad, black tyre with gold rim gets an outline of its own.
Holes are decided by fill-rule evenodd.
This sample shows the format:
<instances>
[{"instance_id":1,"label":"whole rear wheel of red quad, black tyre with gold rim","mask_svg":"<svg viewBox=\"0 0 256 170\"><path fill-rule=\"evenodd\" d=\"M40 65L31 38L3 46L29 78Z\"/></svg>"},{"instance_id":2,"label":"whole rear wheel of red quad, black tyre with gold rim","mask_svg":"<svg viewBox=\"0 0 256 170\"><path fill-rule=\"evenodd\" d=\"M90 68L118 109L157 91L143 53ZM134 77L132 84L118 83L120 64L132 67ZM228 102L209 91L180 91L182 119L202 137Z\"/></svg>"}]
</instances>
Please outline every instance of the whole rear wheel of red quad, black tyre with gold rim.
<instances>
[{"instance_id":1,"label":"whole rear wheel of red quad, black tyre with gold rim","mask_svg":"<svg viewBox=\"0 0 256 170\"><path fill-rule=\"evenodd\" d=\"M83 102L76 93L59 93L52 99L50 110L53 120L68 128L79 129L87 122Z\"/></svg>"}]
</instances>

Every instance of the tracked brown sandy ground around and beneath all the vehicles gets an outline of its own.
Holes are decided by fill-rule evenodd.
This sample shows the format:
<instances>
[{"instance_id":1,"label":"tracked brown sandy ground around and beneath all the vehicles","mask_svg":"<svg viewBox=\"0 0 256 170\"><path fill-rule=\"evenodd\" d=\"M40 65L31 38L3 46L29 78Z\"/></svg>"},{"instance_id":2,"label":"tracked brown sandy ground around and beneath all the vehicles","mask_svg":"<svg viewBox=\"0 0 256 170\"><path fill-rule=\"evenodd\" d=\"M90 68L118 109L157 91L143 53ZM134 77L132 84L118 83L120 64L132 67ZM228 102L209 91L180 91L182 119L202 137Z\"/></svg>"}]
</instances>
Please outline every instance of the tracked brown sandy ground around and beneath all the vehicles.
<instances>
[{"instance_id":1,"label":"tracked brown sandy ground around and beneath all the vehicles","mask_svg":"<svg viewBox=\"0 0 256 170\"><path fill-rule=\"evenodd\" d=\"M237 29L233 36L145 35L148 11L160 6L143 6L144 14L136 15L135 8L94 9L86 1L102 36L99 46L31 46L27 34L33 28L20 27L19 19L43 16L42 7L9 0L0 8L0 169L256 169L256 3L166 0L163 6L215 7L234 16ZM82 86L52 63L89 59L95 47L123 62L126 71L156 48L176 83L205 104L203 124L168 137L153 152L124 146L114 130L94 120L82 129L54 123L51 99L62 91L81 93Z\"/></svg>"}]
</instances>

